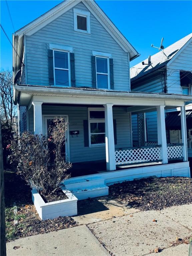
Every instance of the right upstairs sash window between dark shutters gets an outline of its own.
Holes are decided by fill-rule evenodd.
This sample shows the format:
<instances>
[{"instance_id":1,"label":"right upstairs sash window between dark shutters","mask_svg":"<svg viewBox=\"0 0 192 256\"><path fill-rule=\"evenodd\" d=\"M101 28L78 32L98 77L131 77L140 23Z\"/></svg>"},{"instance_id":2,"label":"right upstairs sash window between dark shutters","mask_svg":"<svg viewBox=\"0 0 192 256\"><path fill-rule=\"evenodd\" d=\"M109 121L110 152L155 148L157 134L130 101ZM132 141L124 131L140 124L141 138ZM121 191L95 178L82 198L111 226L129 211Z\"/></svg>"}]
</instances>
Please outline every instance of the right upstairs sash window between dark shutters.
<instances>
[{"instance_id":1,"label":"right upstairs sash window between dark shutters","mask_svg":"<svg viewBox=\"0 0 192 256\"><path fill-rule=\"evenodd\" d=\"M109 58L96 57L97 88L109 88Z\"/></svg>"}]
</instances>

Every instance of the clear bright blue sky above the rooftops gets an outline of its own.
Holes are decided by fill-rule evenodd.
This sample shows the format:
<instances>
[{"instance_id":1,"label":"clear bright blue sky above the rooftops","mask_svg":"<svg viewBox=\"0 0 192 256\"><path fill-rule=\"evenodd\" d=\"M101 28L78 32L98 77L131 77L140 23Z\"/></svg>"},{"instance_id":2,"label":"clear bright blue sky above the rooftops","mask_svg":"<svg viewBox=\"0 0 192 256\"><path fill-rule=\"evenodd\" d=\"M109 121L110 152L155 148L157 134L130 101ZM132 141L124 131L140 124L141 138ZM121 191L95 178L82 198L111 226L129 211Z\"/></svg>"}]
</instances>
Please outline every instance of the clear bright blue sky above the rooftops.
<instances>
[{"instance_id":1,"label":"clear bright blue sky above the rooftops","mask_svg":"<svg viewBox=\"0 0 192 256\"><path fill-rule=\"evenodd\" d=\"M62 1L11 1L8 6L14 29L18 30ZM122 34L141 54L131 61L131 66L157 52L151 48L160 45L164 37L164 47L192 32L192 1L96 1ZM12 41L14 29L5 0L0 2L1 25ZM12 69L12 46L1 29L2 69Z\"/></svg>"}]
</instances>

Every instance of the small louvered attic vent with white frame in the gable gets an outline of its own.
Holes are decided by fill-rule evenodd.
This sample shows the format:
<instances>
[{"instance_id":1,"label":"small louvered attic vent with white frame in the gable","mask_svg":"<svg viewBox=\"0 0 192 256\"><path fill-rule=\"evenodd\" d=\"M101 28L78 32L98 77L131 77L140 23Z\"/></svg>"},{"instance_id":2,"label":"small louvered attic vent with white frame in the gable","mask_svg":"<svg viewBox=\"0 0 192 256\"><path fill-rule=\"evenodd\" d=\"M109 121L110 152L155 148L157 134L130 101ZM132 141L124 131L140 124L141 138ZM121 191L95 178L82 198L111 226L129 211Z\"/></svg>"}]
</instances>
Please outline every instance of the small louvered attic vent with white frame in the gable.
<instances>
[{"instance_id":1,"label":"small louvered attic vent with white frame in the gable","mask_svg":"<svg viewBox=\"0 0 192 256\"><path fill-rule=\"evenodd\" d=\"M73 8L74 30L90 33L90 12Z\"/></svg>"}]
</instances>

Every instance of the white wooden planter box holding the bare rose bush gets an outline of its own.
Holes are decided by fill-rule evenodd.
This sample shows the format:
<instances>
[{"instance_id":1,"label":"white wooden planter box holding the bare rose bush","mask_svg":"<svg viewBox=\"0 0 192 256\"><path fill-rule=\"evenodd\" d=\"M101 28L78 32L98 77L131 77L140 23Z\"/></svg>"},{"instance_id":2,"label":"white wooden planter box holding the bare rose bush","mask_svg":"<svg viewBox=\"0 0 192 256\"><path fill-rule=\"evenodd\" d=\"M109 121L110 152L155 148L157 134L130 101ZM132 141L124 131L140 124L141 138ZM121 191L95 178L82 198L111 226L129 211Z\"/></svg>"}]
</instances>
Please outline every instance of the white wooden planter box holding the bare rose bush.
<instances>
[{"instance_id":1,"label":"white wooden planter box holding the bare rose bush","mask_svg":"<svg viewBox=\"0 0 192 256\"><path fill-rule=\"evenodd\" d=\"M42 220L55 219L59 216L77 215L77 198L69 191L62 189L68 199L45 203L36 189L32 189L32 200Z\"/></svg>"}]
</instances>

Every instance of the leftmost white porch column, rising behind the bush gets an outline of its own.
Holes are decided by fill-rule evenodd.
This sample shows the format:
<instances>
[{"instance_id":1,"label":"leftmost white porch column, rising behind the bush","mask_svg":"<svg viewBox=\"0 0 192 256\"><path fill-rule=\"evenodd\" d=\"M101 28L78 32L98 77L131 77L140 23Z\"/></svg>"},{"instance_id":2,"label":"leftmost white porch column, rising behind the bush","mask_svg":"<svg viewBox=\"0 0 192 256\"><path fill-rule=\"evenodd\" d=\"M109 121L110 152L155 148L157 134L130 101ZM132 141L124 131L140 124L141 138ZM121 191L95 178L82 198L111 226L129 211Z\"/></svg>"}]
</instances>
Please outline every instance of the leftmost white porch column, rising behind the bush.
<instances>
[{"instance_id":1,"label":"leftmost white porch column, rising behind the bush","mask_svg":"<svg viewBox=\"0 0 192 256\"><path fill-rule=\"evenodd\" d=\"M33 101L34 106L34 134L43 134L42 105L43 102Z\"/></svg>"}]
</instances>

